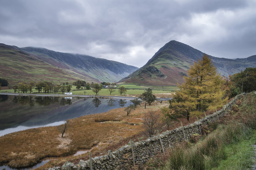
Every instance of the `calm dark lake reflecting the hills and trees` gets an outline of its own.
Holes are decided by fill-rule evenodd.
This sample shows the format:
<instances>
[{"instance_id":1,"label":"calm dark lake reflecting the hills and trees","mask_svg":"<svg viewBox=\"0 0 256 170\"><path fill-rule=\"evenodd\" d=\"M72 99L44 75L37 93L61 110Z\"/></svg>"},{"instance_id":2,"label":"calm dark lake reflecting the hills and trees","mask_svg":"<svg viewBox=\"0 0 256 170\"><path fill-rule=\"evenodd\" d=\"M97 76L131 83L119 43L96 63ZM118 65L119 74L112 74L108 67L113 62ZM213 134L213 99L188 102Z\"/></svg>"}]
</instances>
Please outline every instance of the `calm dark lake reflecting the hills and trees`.
<instances>
[{"instance_id":1,"label":"calm dark lake reflecting the hills and trees","mask_svg":"<svg viewBox=\"0 0 256 170\"><path fill-rule=\"evenodd\" d=\"M129 104L130 101L124 99L0 95L0 136L35 127L57 126L67 119Z\"/></svg>"}]
</instances>

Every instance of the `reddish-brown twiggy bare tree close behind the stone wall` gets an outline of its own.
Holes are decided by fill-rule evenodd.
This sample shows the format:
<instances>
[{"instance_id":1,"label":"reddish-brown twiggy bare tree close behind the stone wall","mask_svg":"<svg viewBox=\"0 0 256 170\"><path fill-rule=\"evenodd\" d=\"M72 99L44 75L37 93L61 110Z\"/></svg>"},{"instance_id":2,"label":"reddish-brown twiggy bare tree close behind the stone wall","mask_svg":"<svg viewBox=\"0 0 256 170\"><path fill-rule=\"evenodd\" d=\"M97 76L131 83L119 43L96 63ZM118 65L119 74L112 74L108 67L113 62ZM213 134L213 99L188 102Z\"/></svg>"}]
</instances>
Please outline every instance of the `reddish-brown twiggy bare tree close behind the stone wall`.
<instances>
[{"instance_id":1,"label":"reddish-brown twiggy bare tree close behind the stone wall","mask_svg":"<svg viewBox=\"0 0 256 170\"><path fill-rule=\"evenodd\" d=\"M144 112L143 126L144 132L148 134L149 137L152 137L157 129L161 126L160 115L154 111Z\"/></svg>"}]
</instances>

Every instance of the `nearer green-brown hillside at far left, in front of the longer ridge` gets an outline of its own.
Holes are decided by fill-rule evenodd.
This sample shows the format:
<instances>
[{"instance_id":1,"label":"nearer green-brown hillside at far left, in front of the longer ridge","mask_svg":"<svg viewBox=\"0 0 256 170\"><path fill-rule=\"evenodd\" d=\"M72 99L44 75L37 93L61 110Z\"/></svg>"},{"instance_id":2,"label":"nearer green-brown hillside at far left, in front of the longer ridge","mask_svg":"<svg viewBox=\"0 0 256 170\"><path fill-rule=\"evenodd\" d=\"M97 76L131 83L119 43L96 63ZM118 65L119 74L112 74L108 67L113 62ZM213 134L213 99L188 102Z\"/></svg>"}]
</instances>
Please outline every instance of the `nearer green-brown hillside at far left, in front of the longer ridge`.
<instances>
[{"instance_id":1,"label":"nearer green-brown hillside at far left, in front of the longer ridge","mask_svg":"<svg viewBox=\"0 0 256 170\"><path fill-rule=\"evenodd\" d=\"M50 81L53 83L75 81L80 77L35 58L33 55L8 47L0 47L0 77L10 86L17 82Z\"/></svg>"}]
</instances>

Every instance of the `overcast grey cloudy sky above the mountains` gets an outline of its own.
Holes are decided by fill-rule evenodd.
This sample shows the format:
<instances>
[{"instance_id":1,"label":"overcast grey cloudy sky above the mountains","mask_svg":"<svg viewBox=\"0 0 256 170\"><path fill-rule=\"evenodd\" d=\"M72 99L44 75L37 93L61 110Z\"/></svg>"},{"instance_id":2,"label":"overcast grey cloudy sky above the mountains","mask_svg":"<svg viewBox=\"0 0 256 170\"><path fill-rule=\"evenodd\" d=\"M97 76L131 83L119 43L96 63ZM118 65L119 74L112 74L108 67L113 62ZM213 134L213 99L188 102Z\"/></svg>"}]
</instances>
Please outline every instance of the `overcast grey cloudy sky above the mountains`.
<instances>
[{"instance_id":1,"label":"overcast grey cloudy sky above the mountains","mask_svg":"<svg viewBox=\"0 0 256 170\"><path fill-rule=\"evenodd\" d=\"M142 67L176 40L219 58L256 55L256 0L0 0L0 43Z\"/></svg>"}]
</instances>

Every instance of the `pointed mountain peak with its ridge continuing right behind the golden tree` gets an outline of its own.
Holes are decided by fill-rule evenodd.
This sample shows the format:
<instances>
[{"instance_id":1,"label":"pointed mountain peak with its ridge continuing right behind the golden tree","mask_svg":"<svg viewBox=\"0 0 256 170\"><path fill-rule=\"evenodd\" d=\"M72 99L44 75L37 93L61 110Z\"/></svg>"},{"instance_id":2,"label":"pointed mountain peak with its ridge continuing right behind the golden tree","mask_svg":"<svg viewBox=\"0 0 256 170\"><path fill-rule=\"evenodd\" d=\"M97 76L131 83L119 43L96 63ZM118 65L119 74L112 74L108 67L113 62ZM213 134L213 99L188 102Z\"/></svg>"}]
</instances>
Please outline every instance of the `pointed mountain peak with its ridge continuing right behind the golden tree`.
<instances>
[{"instance_id":1,"label":"pointed mountain peak with its ridge continuing right behind the golden tree","mask_svg":"<svg viewBox=\"0 0 256 170\"><path fill-rule=\"evenodd\" d=\"M160 48L148 62L121 83L136 83L155 86L176 86L183 83L190 65L202 58L203 52L178 41L170 41ZM210 56L210 55L209 55ZM226 59L210 56L217 71L229 76L247 67L256 67L256 55L245 59Z\"/></svg>"}]
</instances>

